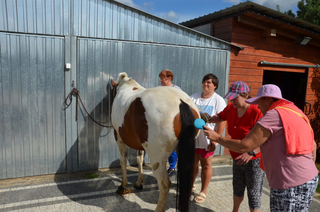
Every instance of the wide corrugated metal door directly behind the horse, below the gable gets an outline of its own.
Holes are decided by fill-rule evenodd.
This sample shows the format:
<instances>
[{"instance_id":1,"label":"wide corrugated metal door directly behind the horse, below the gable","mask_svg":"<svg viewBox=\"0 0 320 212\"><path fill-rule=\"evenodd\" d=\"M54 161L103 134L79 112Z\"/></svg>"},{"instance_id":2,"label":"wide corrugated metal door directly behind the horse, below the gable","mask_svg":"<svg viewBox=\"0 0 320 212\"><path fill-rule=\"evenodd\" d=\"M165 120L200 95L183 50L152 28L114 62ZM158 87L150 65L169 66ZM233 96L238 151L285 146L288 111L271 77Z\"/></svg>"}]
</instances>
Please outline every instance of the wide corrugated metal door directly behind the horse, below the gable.
<instances>
[{"instance_id":1,"label":"wide corrugated metal door directly behind the horse, below the gable","mask_svg":"<svg viewBox=\"0 0 320 212\"><path fill-rule=\"evenodd\" d=\"M201 92L202 77L216 74L225 81L226 51L173 45L78 38L77 86L85 107L103 125L111 125L110 78L121 72L145 88L160 85L163 69L174 73L173 84L191 95ZM217 93L223 93L221 86ZM84 110L78 117L79 170L120 166L113 128L94 124ZM220 154L220 145L215 155ZM136 150L127 148L127 164L136 164ZM149 163L145 156L145 163Z\"/></svg>"}]
</instances>

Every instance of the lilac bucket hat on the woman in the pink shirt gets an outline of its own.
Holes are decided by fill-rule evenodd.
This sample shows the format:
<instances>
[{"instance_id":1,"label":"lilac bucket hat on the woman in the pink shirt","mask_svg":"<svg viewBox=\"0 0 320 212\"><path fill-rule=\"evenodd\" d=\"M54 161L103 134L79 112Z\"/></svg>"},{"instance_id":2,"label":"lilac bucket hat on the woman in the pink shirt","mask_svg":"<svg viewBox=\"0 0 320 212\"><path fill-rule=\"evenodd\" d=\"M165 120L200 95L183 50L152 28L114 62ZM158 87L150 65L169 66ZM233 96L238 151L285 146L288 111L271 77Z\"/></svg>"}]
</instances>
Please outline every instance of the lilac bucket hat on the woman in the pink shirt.
<instances>
[{"instance_id":1,"label":"lilac bucket hat on the woman in the pink shirt","mask_svg":"<svg viewBox=\"0 0 320 212\"><path fill-rule=\"evenodd\" d=\"M250 98L245 100L248 104L258 104L258 100L262 97L273 97L276 99L282 99L286 101L287 103L293 104L293 102L290 102L284 98L282 98L281 90L278 86L268 84L268 85L263 85L259 88L258 94L256 97Z\"/></svg>"}]
</instances>

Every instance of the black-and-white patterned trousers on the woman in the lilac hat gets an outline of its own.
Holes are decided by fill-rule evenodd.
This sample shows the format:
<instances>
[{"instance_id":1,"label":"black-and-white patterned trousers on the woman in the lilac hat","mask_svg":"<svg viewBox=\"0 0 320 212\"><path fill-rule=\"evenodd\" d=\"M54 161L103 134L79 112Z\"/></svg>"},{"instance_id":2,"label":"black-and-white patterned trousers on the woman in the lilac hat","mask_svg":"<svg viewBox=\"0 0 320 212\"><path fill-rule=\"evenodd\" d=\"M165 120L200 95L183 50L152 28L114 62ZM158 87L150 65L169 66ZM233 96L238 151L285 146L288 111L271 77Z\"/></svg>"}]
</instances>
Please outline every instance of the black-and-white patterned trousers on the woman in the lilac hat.
<instances>
[{"instance_id":1,"label":"black-and-white patterned trousers on the woman in the lilac hat","mask_svg":"<svg viewBox=\"0 0 320 212\"><path fill-rule=\"evenodd\" d=\"M319 177L316 175L312 180L302 185L287 189L270 190L271 212L306 212L311 204L312 197L316 192Z\"/></svg>"}]
</instances>

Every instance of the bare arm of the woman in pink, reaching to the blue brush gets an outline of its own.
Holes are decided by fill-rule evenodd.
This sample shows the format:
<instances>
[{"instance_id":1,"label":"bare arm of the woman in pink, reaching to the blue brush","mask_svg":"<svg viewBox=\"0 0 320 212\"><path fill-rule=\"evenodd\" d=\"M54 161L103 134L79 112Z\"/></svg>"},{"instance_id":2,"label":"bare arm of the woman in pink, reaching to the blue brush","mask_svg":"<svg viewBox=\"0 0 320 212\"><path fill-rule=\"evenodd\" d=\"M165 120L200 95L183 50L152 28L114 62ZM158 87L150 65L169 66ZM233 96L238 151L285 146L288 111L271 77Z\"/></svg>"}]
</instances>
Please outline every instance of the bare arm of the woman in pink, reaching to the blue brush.
<instances>
[{"instance_id":1,"label":"bare arm of the woman in pink, reaching to the blue brush","mask_svg":"<svg viewBox=\"0 0 320 212\"><path fill-rule=\"evenodd\" d=\"M204 133L207 133L208 139L239 153L250 152L258 148L262 143L267 141L267 139L271 135L270 131L259 124L256 124L249 132L249 134L242 140L224 138L209 127L204 126L204 128Z\"/></svg>"}]
</instances>

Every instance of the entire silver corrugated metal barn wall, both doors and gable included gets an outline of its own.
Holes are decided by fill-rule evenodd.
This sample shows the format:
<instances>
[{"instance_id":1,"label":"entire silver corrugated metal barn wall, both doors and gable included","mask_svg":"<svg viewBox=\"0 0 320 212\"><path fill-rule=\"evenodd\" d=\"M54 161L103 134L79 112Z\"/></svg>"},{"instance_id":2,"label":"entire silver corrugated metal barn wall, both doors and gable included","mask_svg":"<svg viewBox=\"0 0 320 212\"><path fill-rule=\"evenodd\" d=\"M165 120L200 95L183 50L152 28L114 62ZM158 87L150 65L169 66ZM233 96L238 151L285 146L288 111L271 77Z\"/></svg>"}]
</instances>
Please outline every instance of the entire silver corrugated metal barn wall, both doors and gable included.
<instances>
[{"instance_id":1,"label":"entire silver corrugated metal barn wall, both doors and gable included","mask_svg":"<svg viewBox=\"0 0 320 212\"><path fill-rule=\"evenodd\" d=\"M219 77L218 94L228 87L230 44L116 1L4 0L0 17L0 179L120 166L112 128L81 107L76 114L75 97L65 107L73 80L104 125L110 79L123 71L149 88L171 69L189 95L207 73Z\"/></svg>"}]
</instances>

